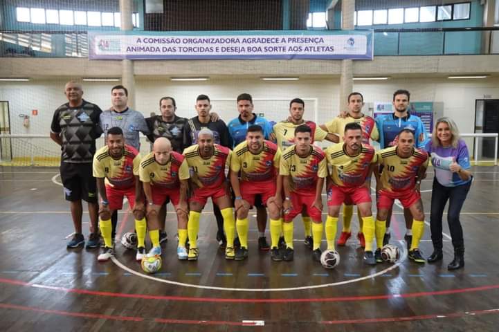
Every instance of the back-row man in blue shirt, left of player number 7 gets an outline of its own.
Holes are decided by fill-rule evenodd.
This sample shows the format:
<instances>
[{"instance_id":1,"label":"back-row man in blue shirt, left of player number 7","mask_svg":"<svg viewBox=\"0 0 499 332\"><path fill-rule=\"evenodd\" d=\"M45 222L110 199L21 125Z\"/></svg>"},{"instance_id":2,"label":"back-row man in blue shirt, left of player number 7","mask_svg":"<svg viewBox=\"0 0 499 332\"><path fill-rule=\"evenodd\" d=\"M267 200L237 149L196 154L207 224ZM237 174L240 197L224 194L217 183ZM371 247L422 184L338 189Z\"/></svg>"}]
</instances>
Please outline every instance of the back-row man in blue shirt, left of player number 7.
<instances>
[{"instance_id":1,"label":"back-row man in blue shirt, left of player number 7","mask_svg":"<svg viewBox=\"0 0 499 332\"><path fill-rule=\"evenodd\" d=\"M239 111L239 116L230 120L227 125L230 137L232 137L234 141L234 147L246 140L248 128L255 124L262 128L263 138L265 140L274 139L270 122L262 116L257 116L253 113L253 98L249 93L242 93L237 96L237 110ZM262 204L264 202L261 201L261 198L262 197L259 195L255 200L258 232L260 233L258 237L258 248L260 248L260 250L269 250L269 243L267 243L265 238L267 212L265 204Z\"/></svg>"}]
</instances>

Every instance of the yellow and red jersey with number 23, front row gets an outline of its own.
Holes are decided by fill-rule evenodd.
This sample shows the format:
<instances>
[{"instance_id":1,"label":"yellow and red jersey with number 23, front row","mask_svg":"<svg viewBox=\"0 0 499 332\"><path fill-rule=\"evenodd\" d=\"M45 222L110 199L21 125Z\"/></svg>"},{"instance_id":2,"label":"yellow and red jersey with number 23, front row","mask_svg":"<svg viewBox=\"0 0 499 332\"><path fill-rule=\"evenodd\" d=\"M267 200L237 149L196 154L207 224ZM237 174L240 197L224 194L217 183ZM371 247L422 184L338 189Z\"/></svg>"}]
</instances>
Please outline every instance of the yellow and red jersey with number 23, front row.
<instances>
[{"instance_id":1,"label":"yellow and red jersey with number 23, front row","mask_svg":"<svg viewBox=\"0 0 499 332\"><path fill-rule=\"evenodd\" d=\"M282 153L279 174L291 176L294 192L315 193L318 178L327 176L324 151L311 145L309 156L302 158L296 153L295 147L291 145Z\"/></svg>"}]
</instances>

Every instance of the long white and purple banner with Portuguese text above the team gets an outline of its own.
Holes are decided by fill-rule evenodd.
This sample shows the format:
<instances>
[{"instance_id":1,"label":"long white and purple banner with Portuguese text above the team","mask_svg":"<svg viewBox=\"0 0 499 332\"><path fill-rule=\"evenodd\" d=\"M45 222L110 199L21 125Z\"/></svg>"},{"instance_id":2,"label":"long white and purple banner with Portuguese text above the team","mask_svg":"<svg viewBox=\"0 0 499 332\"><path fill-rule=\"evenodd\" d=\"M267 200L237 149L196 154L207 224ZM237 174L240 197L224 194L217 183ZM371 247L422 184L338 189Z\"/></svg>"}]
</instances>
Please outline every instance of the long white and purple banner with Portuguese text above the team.
<instances>
[{"instance_id":1,"label":"long white and purple banner with Portuguese text above the team","mask_svg":"<svg viewBox=\"0 0 499 332\"><path fill-rule=\"evenodd\" d=\"M372 30L93 32L90 59L368 59Z\"/></svg>"}]
</instances>

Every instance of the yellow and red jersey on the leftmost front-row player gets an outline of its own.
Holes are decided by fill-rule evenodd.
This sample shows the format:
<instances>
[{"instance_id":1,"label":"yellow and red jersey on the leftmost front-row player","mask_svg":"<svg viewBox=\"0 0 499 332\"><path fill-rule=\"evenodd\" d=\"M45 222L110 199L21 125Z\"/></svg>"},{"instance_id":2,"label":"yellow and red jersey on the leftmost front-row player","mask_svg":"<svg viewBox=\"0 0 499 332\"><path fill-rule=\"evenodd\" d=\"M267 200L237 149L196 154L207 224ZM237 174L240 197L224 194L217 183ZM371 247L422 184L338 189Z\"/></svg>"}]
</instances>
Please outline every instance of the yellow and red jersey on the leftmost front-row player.
<instances>
[{"instance_id":1,"label":"yellow and red jersey on the leftmost front-row player","mask_svg":"<svg viewBox=\"0 0 499 332\"><path fill-rule=\"evenodd\" d=\"M139 164L140 154L130 145L123 147L123 155L119 159L111 157L105 145L93 156L93 176L105 178L106 185L110 187L126 189L135 185Z\"/></svg>"}]
</instances>

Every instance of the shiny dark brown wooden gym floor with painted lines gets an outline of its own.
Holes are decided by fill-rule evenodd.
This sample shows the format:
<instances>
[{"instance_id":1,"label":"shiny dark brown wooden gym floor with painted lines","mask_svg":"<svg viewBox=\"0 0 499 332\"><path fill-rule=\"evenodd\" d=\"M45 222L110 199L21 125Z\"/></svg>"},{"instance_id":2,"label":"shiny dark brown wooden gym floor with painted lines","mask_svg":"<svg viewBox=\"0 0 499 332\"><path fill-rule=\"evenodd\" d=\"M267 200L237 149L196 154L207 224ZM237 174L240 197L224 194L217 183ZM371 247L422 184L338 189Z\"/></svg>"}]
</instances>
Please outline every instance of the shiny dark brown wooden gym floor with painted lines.
<instances>
[{"instance_id":1,"label":"shiny dark brown wooden gym floor with painted lines","mask_svg":"<svg viewBox=\"0 0 499 332\"><path fill-rule=\"evenodd\" d=\"M462 270L446 269L453 257L446 222L444 261L417 265L406 259L400 207L392 223L392 243L404 254L398 264L364 266L353 235L338 249L340 265L325 270L303 246L299 218L295 260L273 262L269 252L257 251L253 217L249 259L226 261L208 203L199 261L176 259L169 205L163 267L145 275L135 252L119 243L116 259L104 264L96 259L99 250L66 249L73 227L57 168L0 167L0 330L498 331L499 168L473 172L461 214ZM426 221L432 178L430 171L421 185ZM133 216L118 216L119 234L131 231ZM353 224L356 234L356 216ZM429 227L421 249L425 257L432 252Z\"/></svg>"}]
</instances>

